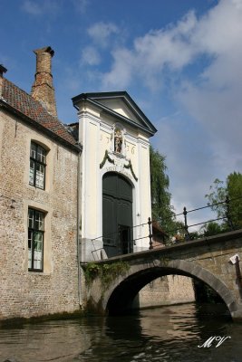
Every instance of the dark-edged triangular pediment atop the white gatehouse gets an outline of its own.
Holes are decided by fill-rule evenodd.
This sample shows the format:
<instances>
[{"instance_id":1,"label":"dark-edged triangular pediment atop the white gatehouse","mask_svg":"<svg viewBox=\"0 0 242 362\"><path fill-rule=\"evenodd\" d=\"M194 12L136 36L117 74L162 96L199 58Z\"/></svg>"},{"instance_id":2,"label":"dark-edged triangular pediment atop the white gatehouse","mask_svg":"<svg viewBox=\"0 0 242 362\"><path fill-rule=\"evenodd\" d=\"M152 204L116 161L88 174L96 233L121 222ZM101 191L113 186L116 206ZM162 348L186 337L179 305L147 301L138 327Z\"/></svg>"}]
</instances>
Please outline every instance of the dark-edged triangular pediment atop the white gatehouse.
<instances>
[{"instance_id":1,"label":"dark-edged triangular pediment atop the white gatehouse","mask_svg":"<svg viewBox=\"0 0 242 362\"><path fill-rule=\"evenodd\" d=\"M117 118L130 123L134 127L146 130L151 136L157 131L126 91L82 93L74 97L73 103L75 104L83 99L94 102L103 110L116 115Z\"/></svg>"}]
</instances>

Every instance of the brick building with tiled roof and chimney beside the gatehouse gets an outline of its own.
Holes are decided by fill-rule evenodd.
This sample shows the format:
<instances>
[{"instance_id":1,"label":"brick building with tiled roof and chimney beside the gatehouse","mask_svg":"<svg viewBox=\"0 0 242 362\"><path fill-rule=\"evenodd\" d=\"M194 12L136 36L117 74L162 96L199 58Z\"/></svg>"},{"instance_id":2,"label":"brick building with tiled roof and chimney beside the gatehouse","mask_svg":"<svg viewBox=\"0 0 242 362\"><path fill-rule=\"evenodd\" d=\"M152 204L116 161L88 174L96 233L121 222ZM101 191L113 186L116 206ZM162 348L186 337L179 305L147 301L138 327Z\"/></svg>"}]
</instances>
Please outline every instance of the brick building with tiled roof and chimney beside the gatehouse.
<instances>
[{"instance_id":1,"label":"brick building with tiled roof and chimney beside the gatehouse","mask_svg":"<svg viewBox=\"0 0 242 362\"><path fill-rule=\"evenodd\" d=\"M0 319L79 309L81 148L57 119L52 55L38 59L32 95L0 69Z\"/></svg>"}]
</instances>

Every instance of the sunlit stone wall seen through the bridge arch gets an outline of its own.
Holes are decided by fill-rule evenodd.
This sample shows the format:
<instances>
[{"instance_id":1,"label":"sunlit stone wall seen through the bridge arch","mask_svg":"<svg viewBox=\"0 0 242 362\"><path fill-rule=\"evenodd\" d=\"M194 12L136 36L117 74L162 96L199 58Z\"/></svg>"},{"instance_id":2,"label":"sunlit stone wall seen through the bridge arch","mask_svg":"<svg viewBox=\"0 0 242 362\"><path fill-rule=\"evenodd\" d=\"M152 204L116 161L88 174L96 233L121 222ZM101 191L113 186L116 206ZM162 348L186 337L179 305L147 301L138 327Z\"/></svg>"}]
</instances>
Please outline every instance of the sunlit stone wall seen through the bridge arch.
<instances>
[{"instance_id":1,"label":"sunlit stone wall seen through the bridge arch","mask_svg":"<svg viewBox=\"0 0 242 362\"><path fill-rule=\"evenodd\" d=\"M195 300L192 280L181 275L163 276L151 281L139 293L140 308L189 303Z\"/></svg>"}]
</instances>

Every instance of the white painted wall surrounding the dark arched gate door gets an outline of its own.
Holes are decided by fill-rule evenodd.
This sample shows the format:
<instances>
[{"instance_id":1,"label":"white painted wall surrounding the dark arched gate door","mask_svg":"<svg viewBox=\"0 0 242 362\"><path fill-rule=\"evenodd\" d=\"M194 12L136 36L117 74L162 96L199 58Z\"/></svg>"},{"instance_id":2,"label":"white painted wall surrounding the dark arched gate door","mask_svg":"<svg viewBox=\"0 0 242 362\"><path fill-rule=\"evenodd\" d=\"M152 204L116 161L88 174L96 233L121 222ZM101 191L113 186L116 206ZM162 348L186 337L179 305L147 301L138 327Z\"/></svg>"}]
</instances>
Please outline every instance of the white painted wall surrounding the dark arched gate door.
<instances>
[{"instance_id":1,"label":"white painted wall surrounding the dark arched gate door","mask_svg":"<svg viewBox=\"0 0 242 362\"><path fill-rule=\"evenodd\" d=\"M109 104L110 105L110 104ZM112 109L121 115L129 115L131 110L121 101L111 102ZM80 102L79 137L82 143L82 262L101 259L102 250L102 176L106 172L117 172L127 177L133 186L133 225L145 224L151 216L150 204L150 143L148 135L136 127L131 127L119 116L103 112L102 108ZM135 115L133 116L135 118ZM115 124L123 131L122 155L115 154L113 129ZM101 168L106 150L114 164L106 160ZM125 168L131 161L133 172ZM146 250L150 246L149 226L135 227L133 236L138 239L134 252Z\"/></svg>"}]
</instances>

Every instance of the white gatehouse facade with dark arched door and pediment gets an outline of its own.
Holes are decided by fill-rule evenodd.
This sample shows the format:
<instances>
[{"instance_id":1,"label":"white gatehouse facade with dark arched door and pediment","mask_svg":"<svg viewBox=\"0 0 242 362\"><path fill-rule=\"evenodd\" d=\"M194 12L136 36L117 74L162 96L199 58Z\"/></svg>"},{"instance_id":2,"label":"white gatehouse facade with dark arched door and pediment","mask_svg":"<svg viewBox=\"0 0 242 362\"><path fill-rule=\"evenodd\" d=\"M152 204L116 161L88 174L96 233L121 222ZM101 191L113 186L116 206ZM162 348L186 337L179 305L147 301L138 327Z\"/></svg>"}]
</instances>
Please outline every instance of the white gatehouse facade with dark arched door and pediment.
<instances>
[{"instance_id":1,"label":"white gatehouse facade with dark arched door and pediment","mask_svg":"<svg viewBox=\"0 0 242 362\"><path fill-rule=\"evenodd\" d=\"M82 262L148 249L156 129L126 91L82 93L73 105L82 144Z\"/></svg>"}]
</instances>

